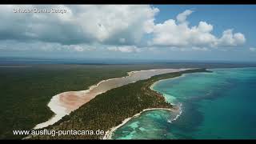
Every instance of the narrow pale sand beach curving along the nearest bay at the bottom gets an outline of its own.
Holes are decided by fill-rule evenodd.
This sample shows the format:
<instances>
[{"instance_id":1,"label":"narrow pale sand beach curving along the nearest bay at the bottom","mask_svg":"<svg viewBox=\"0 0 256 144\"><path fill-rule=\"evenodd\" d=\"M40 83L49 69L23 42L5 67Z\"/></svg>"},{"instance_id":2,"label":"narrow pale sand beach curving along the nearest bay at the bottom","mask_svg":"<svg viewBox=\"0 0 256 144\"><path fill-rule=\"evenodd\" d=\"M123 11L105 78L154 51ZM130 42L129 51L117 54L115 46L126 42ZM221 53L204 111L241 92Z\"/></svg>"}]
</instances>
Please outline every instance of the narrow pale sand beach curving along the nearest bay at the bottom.
<instances>
[{"instance_id":1,"label":"narrow pale sand beach curving along the nearest bay at the bottom","mask_svg":"<svg viewBox=\"0 0 256 144\"><path fill-rule=\"evenodd\" d=\"M142 110L141 112L139 112L138 114L134 114L134 116L130 117L130 118L126 118L122 121L121 124L119 124L118 126L114 126L112 128L110 128L110 130L106 131L106 134L103 136L102 139L111 139L112 138L112 134L115 130L117 130L119 127L125 125L127 122L129 122L131 119L133 118L137 118L138 116L140 116L142 113L146 112L146 111L150 111L150 110L169 110L170 112L174 112L174 109L168 109L168 108L149 108L149 109L145 109Z\"/></svg>"}]
</instances>

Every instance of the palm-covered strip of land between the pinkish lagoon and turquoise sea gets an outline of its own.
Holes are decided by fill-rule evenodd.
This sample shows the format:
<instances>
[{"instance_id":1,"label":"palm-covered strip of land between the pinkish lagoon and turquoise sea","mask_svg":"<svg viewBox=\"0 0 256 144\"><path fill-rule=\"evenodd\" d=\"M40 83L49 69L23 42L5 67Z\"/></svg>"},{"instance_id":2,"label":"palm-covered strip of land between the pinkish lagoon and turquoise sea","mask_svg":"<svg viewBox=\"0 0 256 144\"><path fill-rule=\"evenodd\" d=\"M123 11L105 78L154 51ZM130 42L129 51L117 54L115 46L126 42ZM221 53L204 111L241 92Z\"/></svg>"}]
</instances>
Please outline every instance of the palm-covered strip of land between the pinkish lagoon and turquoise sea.
<instances>
[{"instance_id":1,"label":"palm-covered strip of land between the pinkish lagoon and turquoise sea","mask_svg":"<svg viewBox=\"0 0 256 144\"><path fill-rule=\"evenodd\" d=\"M161 79L178 77L185 73L209 72L205 69L186 70L170 74L161 74L109 90L99 94L90 102L81 106L70 115L62 118L47 130L109 130L118 126L126 118L148 108L172 108L161 94L150 90L150 86ZM40 135L34 139L97 139L102 135Z\"/></svg>"}]
</instances>

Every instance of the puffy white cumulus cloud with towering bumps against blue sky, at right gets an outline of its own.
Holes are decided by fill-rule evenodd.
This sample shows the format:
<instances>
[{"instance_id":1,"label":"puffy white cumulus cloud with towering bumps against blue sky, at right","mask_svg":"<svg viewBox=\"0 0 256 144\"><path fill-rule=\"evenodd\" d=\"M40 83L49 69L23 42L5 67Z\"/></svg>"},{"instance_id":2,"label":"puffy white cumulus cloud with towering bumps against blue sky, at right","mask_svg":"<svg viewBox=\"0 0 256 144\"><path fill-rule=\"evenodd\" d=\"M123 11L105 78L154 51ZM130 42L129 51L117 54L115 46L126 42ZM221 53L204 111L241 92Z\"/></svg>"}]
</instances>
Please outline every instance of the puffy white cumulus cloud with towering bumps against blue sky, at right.
<instances>
[{"instance_id":1,"label":"puffy white cumulus cloud with towering bumps against blue sky, at right","mask_svg":"<svg viewBox=\"0 0 256 144\"><path fill-rule=\"evenodd\" d=\"M198 26L189 26L186 22L187 16L193 11L186 10L178 14L177 21L166 20L155 24L153 39L149 44L156 46L178 46L178 47L218 47L218 46L240 46L246 42L241 33L233 34L233 30L225 30L221 38L217 38L211 32L214 26L207 22L199 22Z\"/></svg>"}]
</instances>

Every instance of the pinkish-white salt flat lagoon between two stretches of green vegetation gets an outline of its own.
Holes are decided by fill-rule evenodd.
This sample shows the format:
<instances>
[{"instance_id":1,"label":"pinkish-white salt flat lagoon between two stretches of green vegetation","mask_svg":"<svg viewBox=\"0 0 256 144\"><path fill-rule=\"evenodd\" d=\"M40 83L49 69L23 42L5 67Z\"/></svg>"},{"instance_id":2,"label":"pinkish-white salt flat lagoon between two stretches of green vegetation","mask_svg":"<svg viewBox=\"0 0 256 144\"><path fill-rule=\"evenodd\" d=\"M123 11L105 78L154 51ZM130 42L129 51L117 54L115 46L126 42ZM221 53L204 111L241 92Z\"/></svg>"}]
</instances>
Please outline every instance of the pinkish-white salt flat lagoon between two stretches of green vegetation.
<instances>
[{"instance_id":1,"label":"pinkish-white salt flat lagoon between two stretches of green vegetation","mask_svg":"<svg viewBox=\"0 0 256 144\"><path fill-rule=\"evenodd\" d=\"M54 112L54 116L46 122L39 123L34 129L40 129L46 126L53 125L58 122L62 117L70 114L71 111L77 110L80 106L95 98L98 94L105 93L107 90L116 87L124 86L132 82L151 78L158 74L174 73L190 69L155 69L155 70L138 70L130 71L127 76L121 78L110 78L98 82L97 85L90 86L88 90L81 91L67 91L55 95L51 98L48 106Z\"/></svg>"}]
</instances>

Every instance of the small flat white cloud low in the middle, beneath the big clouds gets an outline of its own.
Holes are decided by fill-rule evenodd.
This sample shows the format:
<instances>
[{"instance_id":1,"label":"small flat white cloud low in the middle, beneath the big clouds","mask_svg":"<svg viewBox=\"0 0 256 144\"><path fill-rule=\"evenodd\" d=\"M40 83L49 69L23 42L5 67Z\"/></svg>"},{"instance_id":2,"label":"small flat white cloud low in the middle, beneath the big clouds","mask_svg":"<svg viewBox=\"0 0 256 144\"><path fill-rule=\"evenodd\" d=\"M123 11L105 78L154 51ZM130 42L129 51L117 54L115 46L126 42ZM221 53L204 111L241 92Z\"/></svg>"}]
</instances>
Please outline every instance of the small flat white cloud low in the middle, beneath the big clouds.
<instances>
[{"instance_id":1,"label":"small flat white cloud low in the middle, beneath the big clouds","mask_svg":"<svg viewBox=\"0 0 256 144\"><path fill-rule=\"evenodd\" d=\"M141 50L137 46L110 46L107 48L110 51L119 51L122 53L138 53Z\"/></svg>"}]
</instances>

